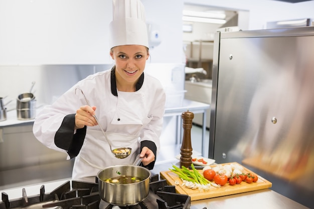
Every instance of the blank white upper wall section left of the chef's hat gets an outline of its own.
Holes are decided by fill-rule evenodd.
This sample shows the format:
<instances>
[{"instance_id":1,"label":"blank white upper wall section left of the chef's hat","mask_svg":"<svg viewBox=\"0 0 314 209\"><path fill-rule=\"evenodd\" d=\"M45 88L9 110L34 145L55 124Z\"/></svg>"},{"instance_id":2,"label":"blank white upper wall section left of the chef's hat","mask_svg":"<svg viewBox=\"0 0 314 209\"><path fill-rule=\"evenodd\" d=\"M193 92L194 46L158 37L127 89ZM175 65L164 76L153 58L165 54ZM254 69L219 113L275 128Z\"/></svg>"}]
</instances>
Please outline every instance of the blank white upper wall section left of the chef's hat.
<instances>
[{"instance_id":1,"label":"blank white upper wall section left of the chef's hat","mask_svg":"<svg viewBox=\"0 0 314 209\"><path fill-rule=\"evenodd\" d=\"M0 1L2 65L108 62L110 1Z\"/></svg>"}]
</instances>

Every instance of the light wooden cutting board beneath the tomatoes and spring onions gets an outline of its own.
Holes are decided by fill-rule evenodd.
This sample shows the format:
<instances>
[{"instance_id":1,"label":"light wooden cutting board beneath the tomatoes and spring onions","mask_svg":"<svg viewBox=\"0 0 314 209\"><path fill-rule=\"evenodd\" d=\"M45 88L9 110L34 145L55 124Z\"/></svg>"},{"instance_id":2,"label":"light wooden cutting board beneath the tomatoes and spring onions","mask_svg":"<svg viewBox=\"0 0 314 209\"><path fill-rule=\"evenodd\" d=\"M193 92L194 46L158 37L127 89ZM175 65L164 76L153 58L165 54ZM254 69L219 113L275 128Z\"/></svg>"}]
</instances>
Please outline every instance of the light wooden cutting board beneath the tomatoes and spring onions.
<instances>
[{"instance_id":1,"label":"light wooden cutting board beneath the tomatoes and spring onions","mask_svg":"<svg viewBox=\"0 0 314 209\"><path fill-rule=\"evenodd\" d=\"M231 164L231 163L236 163L237 162L230 162L230 163L223 163L222 165L225 164ZM213 167L215 165L211 165ZM247 169L243 165L241 165L244 168L244 173L252 173L254 175L257 175L256 173L252 172L251 170ZM203 173L202 170L199 170L200 173ZM214 186L211 186L209 191L199 191L199 189L191 189L186 186L181 186L182 185L182 180L178 177L177 174L174 172L168 170L168 171L162 171L161 173L161 178L167 180L168 185L175 185L176 186L176 191L177 193L180 194L188 194L191 196L191 200L199 200L199 199L207 199L207 198L212 198L212 197L218 197L218 196L225 196L229 194L237 194L237 193L242 193L242 192L247 192L247 191L254 191L254 190L259 190L259 189L264 189L264 188L270 188L271 187L271 182L266 180L265 178L258 176L258 181L257 182L252 182L252 183L247 183L245 181L242 181L240 184L235 184L235 185L229 185L229 182L227 182L225 185L221 186L220 188L216 188ZM179 181L179 185L176 185L175 181Z\"/></svg>"}]
</instances>

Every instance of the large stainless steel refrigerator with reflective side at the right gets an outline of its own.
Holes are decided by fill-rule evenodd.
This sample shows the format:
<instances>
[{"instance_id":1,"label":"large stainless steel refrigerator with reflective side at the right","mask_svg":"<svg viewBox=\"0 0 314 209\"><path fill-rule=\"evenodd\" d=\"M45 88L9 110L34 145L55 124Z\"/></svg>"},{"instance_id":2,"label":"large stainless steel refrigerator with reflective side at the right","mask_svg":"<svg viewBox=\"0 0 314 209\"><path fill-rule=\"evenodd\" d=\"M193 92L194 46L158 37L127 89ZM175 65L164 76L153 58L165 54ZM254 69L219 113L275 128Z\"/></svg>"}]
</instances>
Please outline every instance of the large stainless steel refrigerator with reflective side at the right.
<instances>
[{"instance_id":1,"label":"large stainless steel refrigerator with reflective side at the right","mask_svg":"<svg viewBox=\"0 0 314 209\"><path fill-rule=\"evenodd\" d=\"M314 208L314 27L216 33L209 157Z\"/></svg>"}]
</instances>

